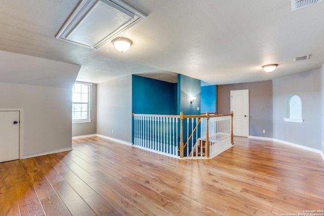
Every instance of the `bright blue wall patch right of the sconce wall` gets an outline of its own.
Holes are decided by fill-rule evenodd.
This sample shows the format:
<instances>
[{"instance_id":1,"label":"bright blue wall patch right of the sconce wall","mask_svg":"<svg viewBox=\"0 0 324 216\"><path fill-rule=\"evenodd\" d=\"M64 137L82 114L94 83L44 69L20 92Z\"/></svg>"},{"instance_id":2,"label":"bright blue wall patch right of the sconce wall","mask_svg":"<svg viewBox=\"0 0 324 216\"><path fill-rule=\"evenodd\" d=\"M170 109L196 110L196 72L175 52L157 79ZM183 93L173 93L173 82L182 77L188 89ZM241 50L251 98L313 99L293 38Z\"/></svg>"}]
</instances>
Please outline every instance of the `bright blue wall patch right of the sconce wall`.
<instances>
[{"instance_id":1,"label":"bright blue wall patch right of the sconce wall","mask_svg":"<svg viewBox=\"0 0 324 216\"><path fill-rule=\"evenodd\" d=\"M216 85L201 87L201 113L216 111Z\"/></svg>"}]
</instances>

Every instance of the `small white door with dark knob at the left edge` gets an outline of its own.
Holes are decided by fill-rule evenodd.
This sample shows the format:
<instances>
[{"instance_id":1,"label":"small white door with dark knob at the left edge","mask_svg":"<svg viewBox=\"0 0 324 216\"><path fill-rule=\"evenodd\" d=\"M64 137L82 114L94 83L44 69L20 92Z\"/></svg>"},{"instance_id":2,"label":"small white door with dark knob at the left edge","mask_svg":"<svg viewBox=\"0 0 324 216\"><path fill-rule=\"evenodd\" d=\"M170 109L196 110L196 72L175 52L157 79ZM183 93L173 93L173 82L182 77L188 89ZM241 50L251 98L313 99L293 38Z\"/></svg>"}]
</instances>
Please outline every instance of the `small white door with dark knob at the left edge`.
<instances>
[{"instance_id":1,"label":"small white door with dark knob at the left edge","mask_svg":"<svg viewBox=\"0 0 324 216\"><path fill-rule=\"evenodd\" d=\"M0 162L19 159L19 111L0 111Z\"/></svg>"}]
</instances>

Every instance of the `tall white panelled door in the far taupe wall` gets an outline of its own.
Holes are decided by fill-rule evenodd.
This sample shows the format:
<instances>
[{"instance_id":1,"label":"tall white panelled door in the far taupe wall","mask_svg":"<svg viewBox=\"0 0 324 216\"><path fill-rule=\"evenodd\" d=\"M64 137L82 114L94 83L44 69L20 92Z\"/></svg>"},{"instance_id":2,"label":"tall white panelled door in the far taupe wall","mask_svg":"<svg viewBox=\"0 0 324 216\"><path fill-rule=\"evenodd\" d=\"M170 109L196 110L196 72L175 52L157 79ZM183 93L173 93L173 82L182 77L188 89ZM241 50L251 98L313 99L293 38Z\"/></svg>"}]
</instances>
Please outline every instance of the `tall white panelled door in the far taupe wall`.
<instances>
[{"instance_id":1,"label":"tall white panelled door in the far taupe wall","mask_svg":"<svg viewBox=\"0 0 324 216\"><path fill-rule=\"evenodd\" d=\"M249 90L231 91L231 111L233 111L233 135L249 135Z\"/></svg>"}]
</instances>

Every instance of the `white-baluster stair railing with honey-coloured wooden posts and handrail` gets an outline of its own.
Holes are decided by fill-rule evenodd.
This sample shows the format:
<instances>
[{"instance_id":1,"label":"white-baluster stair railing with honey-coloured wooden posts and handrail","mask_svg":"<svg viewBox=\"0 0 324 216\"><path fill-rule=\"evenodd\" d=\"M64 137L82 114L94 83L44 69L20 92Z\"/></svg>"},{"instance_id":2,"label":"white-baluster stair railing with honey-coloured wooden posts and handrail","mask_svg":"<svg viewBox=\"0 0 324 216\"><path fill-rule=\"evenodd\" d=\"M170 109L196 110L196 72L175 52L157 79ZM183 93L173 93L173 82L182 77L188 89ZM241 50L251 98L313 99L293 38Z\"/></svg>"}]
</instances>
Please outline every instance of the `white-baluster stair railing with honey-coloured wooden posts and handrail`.
<instances>
[{"instance_id":1,"label":"white-baluster stair railing with honey-coloured wooden posts and handrail","mask_svg":"<svg viewBox=\"0 0 324 216\"><path fill-rule=\"evenodd\" d=\"M208 112L201 115L184 115L183 112L180 115L132 115L134 145L159 154L198 158L199 146L199 158L210 158L233 145L233 112L223 115Z\"/></svg>"}]
</instances>

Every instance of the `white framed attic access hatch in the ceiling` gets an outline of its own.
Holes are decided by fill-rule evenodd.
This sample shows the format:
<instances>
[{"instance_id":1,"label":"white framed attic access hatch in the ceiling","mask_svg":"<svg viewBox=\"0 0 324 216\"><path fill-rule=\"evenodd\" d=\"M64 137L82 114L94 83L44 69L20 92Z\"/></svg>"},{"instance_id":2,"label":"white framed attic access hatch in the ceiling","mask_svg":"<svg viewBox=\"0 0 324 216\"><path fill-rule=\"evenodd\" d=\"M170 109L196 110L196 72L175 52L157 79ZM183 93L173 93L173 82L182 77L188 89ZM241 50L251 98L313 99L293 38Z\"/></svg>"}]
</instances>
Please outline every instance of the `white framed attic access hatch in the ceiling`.
<instances>
[{"instance_id":1,"label":"white framed attic access hatch in the ceiling","mask_svg":"<svg viewBox=\"0 0 324 216\"><path fill-rule=\"evenodd\" d=\"M82 0L55 37L96 50L144 18L119 0Z\"/></svg>"}]
</instances>

